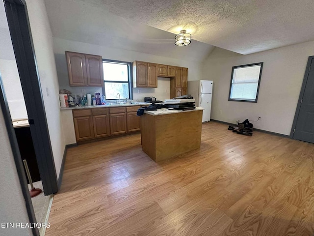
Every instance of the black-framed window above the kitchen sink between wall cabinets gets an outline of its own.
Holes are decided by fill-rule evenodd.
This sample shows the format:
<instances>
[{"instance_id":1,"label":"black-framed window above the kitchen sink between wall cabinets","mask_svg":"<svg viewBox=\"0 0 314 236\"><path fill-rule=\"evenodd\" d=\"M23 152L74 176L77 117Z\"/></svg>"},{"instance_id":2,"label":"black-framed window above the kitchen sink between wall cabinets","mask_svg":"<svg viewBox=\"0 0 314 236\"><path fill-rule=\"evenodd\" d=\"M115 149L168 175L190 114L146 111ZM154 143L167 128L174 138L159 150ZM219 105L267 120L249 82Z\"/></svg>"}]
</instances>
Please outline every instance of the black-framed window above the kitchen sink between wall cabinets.
<instances>
[{"instance_id":1,"label":"black-framed window above the kitchen sink between wall cabinets","mask_svg":"<svg viewBox=\"0 0 314 236\"><path fill-rule=\"evenodd\" d=\"M103 59L104 95L106 100L132 99L131 62Z\"/></svg>"}]
</instances>

